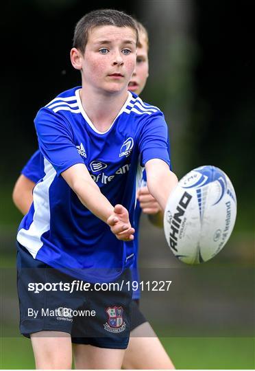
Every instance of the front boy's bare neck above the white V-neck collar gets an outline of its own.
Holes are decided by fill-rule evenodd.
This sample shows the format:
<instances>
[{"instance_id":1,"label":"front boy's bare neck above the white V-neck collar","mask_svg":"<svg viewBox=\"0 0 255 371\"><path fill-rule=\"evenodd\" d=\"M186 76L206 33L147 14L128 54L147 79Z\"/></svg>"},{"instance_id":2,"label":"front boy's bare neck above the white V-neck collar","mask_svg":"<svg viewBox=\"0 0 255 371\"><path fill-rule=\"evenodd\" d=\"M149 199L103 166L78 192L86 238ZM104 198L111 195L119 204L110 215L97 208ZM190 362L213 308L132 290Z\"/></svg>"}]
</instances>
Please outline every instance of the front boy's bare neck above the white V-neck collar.
<instances>
[{"instance_id":1,"label":"front boy's bare neck above the white V-neck collar","mask_svg":"<svg viewBox=\"0 0 255 371\"><path fill-rule=\"evenodd\" d=\"M123 104L127 100L127 90L118 93L92 91L82 85L80 98L84 111L98 131L104 133L112 125Z\"/></svg>"}]
</instances>

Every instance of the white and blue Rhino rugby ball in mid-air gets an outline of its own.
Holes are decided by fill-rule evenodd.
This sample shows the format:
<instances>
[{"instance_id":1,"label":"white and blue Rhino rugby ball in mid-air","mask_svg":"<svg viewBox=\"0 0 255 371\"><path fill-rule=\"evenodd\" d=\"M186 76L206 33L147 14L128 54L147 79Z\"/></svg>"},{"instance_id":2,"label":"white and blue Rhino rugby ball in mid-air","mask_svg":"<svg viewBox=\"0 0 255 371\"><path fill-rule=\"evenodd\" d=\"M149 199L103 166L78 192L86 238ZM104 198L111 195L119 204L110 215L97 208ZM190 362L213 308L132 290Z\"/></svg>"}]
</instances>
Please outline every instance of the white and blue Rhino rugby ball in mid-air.
<instances>
[{"instance_id":1,"label":"white and blue Rhino rugby ball in mid-air","mask_svg":"<svg viewBox=\"0 0 255 371\"><path fill-rule=\"evenodd\" d=\"M171 192L164 215L167 243L186 264L206 262L226 245L236 220L236 194L215 166L185 175Z\"/></svg>"}]
</instances>

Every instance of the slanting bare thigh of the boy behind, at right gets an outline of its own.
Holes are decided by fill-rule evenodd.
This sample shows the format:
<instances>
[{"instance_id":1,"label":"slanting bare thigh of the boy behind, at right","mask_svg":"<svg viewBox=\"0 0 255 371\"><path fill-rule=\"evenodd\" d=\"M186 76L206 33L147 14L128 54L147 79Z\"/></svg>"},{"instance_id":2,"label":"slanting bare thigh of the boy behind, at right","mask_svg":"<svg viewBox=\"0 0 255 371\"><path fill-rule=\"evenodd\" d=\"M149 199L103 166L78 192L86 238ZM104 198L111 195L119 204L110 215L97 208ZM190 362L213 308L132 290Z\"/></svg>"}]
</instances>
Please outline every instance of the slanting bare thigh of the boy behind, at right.
<instances>
[{"instance_id":1,"label":"slanting bare thigh of the boy behind, at right","mask_svg":"<svg viewBox=\"0 0 255 371\"><path fill-rule=\"evenodd\" d=\"M149 322L132 330L123 359L123 368L173 370L174 366Z\"/></svg>"}]
</instances>

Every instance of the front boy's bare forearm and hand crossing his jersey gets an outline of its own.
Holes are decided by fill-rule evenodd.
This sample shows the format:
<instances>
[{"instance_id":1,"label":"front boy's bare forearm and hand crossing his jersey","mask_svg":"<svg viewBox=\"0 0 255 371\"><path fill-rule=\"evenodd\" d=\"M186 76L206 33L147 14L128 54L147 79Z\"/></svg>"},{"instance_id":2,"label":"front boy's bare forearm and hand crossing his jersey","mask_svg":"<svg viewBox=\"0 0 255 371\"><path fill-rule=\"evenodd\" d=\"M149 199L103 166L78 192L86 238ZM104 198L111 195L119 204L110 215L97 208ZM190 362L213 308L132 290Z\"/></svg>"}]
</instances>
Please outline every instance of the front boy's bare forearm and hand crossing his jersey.
<instances>
[{"instance_id":1,"label":"front boy's bare forearm and hand crossing his jersey","mask_svg":"<svg viewBox=\"0 0 255 371\"><path fill-rule=\"evenodd\" d=\"M134 228L130 225L128 212L122 205L115 205L101 193L95 181L91 179L84 164L75 164L61 173L62 177L77 194L82 204L95 216L110 226L119 240L133 240Z\"/></svg>"}]
</instances>

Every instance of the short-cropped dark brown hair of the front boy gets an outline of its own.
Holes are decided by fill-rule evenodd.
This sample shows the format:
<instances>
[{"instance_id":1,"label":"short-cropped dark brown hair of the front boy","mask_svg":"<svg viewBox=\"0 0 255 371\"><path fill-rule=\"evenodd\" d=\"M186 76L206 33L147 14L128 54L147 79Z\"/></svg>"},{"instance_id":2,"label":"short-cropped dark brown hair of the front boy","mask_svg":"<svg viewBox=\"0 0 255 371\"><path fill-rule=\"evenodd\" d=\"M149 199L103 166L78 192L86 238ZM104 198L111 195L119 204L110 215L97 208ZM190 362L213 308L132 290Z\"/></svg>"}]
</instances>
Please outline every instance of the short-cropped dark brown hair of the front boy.
<instances>
[{"instance_id":1,"label":"short-cropped dark brown hair of the front boy","mask_svg":"<svg viewBox=\"0 0 255 371\"><path fill-rule=\"evenodd\" d=\"M114 25L116 27L130 27L136 33L136 45L138 43L138 30L136 21L119 10L114 9L102 9L93 10L88 14L85 14L75 26L75 32L73 35L73 47L84 54L86 44L88 43L88 34L94 27L102 25Z\"/></svg>"}]
</instances>

